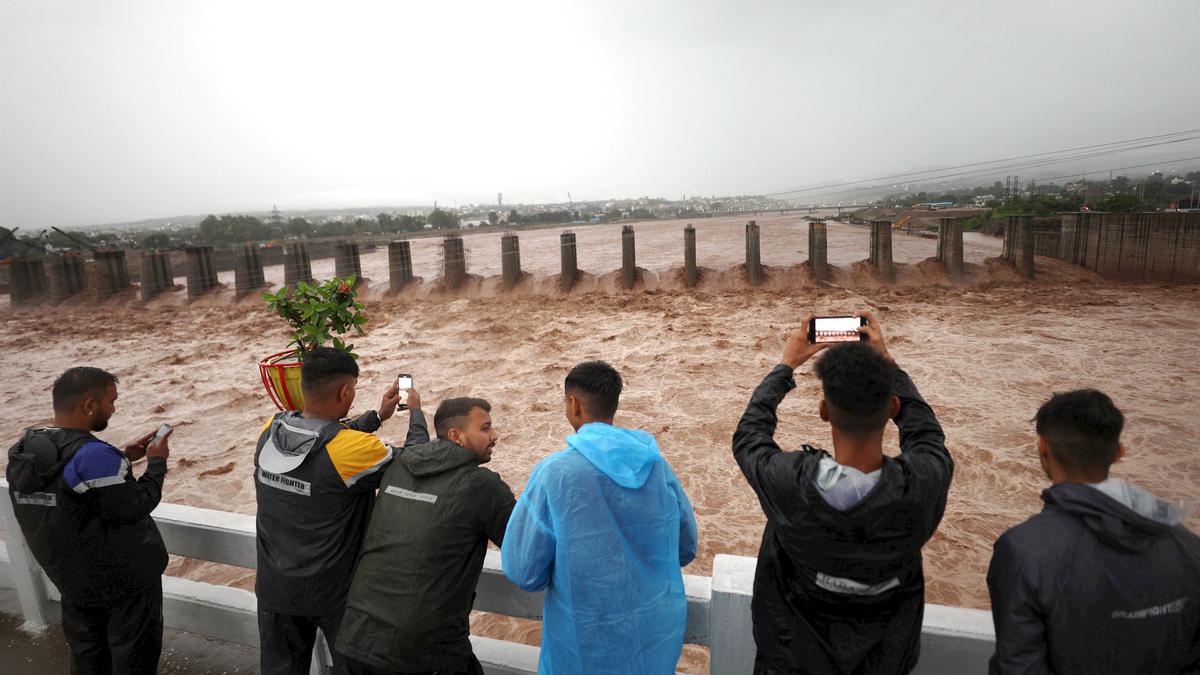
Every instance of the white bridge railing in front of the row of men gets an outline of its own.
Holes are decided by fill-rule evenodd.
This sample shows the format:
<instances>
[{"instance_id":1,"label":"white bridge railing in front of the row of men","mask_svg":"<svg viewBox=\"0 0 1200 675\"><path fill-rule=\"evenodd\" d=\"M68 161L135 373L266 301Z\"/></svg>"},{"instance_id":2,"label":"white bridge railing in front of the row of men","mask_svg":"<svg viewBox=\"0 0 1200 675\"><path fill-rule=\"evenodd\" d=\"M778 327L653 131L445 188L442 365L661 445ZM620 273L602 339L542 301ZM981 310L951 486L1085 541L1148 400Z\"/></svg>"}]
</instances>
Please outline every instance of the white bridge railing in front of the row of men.
<instances>
[{"instance_id":1,"label":"white bridge railing in front of the row of men","mask_svg":"<svg viewBox=\"0 0 1200 675\"><path fill-rule=\"evenodd\" d=\"M158 531L174 555L253 569L254 516L160 504ZM0 586L17 589L25 621L32 628L58 622L58 590L37 566L17 527L8 484L0 479ZM750 599L755 558L718 555L713 575L684 574L688 596L688 644L707 645L710 671L751 671L754 638ZM500 569L500 555L487 551L476 587L475 609L541 619L542 595L522 591ZM168 627L240 645L258 646L254 593L174 577L163 577L163 615ZM490 675L527 675L538 670L538 647L472 637L475 656ZM917 673L986 673L995 633L991 615L976 609L925 605L920 664ZM317 668L317 667L314 667Z\"/></svg>"}]
</instances>

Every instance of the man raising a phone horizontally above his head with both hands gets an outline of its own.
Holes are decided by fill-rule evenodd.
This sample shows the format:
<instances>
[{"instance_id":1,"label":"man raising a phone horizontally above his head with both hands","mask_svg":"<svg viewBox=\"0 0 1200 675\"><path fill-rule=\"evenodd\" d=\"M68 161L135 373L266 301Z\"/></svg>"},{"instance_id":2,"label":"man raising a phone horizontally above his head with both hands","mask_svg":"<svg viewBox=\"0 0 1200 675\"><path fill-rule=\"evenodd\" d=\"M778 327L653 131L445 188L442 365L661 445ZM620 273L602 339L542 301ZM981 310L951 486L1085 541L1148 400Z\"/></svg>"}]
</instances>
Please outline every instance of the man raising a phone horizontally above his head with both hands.
<instances>
[{"instance_id":1,"label":"man raising a phone horizontally above his head with both hands","mask_svg":"<svg viewBox=\"0 0 1200 675\"><path fill-rule=\"evenodd\" d=\"M894 674L917 664L920 549L942 520L954 462L878 321L860 316L863 341L841 342L816 364L833 456L811 446L782 452L774 440L793 371L829 347L808 341L811 316L733 434L733 456L767 515L751 601L755 673ZM896 458L883 454L888 419L900 431Z\"/></svg>"}]
</instances>

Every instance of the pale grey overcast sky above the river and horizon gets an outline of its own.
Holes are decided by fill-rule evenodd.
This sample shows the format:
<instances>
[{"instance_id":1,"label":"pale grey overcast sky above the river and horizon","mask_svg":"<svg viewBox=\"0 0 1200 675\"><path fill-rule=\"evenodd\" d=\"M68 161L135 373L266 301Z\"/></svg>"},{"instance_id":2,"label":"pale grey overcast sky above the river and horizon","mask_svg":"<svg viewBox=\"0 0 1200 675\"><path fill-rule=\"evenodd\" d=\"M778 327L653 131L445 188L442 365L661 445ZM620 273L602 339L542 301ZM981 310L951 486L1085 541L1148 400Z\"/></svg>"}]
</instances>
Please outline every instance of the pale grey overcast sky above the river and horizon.
<instances>
[{"instance_id":1,"label":"pale grey overcast sky above the river and horizon","mask_svg":"<svg viewBox=\"0 0 1200 675\"><path fill-rule=\"evenodd\" d=\"M763 193L1174 132L1198 25L1195 0L0 0L0 225Z\"/></svg>"}]
</instances>

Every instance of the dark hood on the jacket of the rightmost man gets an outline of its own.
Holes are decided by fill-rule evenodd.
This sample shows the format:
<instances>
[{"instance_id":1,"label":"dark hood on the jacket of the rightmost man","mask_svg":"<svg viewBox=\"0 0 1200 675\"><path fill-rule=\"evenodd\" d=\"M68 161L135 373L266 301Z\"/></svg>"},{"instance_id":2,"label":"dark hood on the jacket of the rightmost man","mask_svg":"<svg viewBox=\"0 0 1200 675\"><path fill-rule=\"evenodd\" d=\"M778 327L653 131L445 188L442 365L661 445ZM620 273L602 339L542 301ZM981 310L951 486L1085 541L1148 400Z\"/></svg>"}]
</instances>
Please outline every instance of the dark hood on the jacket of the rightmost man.
<instances>
[{"instance_id":1,"label":"dark hood on the jacket of the rightmost man","mask_svg":"<svg viewBox=\"0 0 1200 675\"><path fill-rule=\"evenodd\" d=\"M1042 492L1048 507L1078 518L1106 546L1129 552L1148 550L1180 521L1171 504L1151 498L1150 508L1139 513L1082 483L1060 483Z\"/></svg>"}]
</instances>

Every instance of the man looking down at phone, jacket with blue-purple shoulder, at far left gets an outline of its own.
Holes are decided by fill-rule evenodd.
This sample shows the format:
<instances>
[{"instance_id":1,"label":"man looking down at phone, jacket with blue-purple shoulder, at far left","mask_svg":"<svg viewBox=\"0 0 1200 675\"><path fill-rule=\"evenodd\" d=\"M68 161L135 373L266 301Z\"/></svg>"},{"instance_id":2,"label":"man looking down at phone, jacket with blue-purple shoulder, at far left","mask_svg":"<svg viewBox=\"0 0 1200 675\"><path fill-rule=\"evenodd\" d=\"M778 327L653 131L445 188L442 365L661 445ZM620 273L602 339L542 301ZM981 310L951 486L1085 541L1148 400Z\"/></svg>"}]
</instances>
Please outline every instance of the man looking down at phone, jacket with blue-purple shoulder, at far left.
<instances>
[{"instance_id":1,"label":"man looking down at phone, jacket with blue-purple shoulder, at far left","mask_svg":"<svg viewBox=\"0 0 1200 675\"><path fill-rule=\"evenodd\" d=\"M162 651L167 549L150 512L167 476L170 431L121 452L92 434L116 412L118 380L78 366L54 382L54 423L8 450L22 533L62 595L71 671L155 673ZM142 478L130 465L149 458Z\"/></svg>"}]
</instances>

